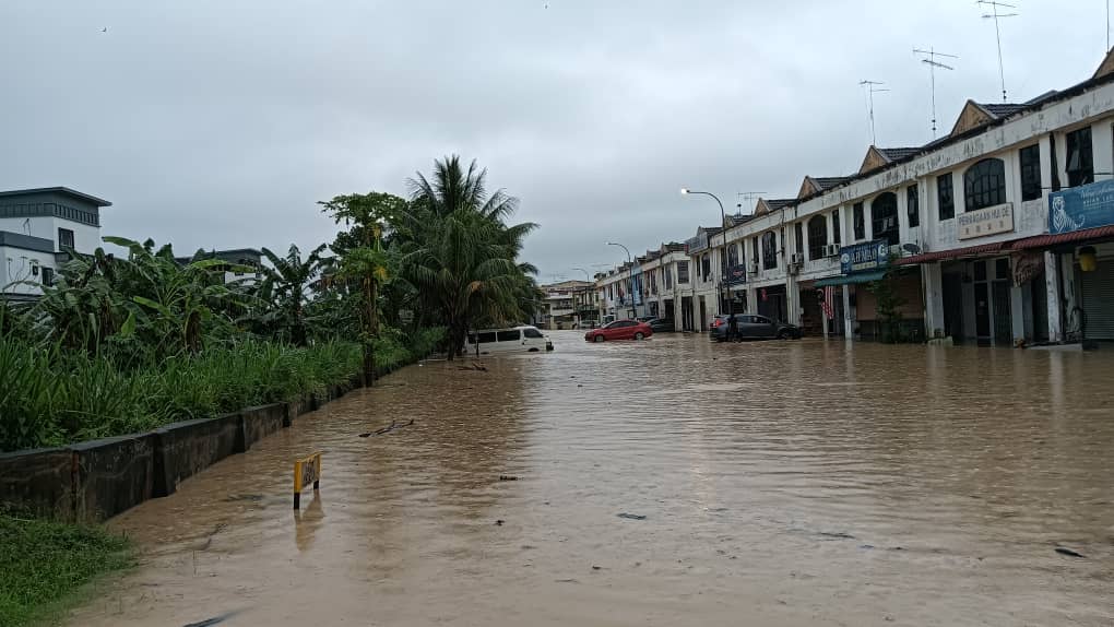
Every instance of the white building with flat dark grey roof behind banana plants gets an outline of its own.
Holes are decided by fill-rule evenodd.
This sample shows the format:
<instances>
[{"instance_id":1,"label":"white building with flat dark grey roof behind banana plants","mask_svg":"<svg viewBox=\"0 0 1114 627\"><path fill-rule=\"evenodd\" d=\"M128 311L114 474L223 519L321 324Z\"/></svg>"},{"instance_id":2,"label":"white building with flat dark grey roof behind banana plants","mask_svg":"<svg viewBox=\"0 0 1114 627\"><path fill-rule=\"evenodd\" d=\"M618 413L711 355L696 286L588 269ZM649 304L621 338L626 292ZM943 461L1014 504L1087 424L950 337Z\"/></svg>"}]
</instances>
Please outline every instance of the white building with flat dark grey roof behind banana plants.
<instances>
[{"instance_id":1,"label":"white building with flat dark grey roof behind banana plants","mask_svg":"<svg viewBox=\"0 0 1114 627\"><path fill-rule=\"evenodd\" d=\"M0 297L31 298L50 285L67 248L100 245L100 208L111 203L67 187L0 192Z\"/></svg>"}]
</instances>

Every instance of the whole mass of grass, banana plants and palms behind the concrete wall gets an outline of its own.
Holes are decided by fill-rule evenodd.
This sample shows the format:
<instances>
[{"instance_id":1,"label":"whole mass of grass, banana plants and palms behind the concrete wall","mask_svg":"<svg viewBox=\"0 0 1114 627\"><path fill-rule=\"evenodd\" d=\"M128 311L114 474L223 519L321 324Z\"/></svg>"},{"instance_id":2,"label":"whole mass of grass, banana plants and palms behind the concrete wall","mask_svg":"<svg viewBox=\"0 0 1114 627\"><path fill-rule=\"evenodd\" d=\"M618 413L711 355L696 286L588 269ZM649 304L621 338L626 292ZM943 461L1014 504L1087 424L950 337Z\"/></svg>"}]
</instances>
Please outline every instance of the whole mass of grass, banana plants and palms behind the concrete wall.
<instances>
[{"instance_id":1,"label":"whole mass of grass, banana plants and palms behind the concrete wall","mask_svg":"<svg viewBox=\"0 0 1114 627\"><path fill-rule=\"evenodd\" d=\"M518 202L486 176L448 157L409 199L336 196L321 203L343 228L331 244L264 248L264 267L183 261L149 239L69 251L41 298L0 301L0 451L372 381L434 350L459 355L469 329L522 322L537 286L518 255L536 225L507 225Z\"/></svg>"}]
</instances>

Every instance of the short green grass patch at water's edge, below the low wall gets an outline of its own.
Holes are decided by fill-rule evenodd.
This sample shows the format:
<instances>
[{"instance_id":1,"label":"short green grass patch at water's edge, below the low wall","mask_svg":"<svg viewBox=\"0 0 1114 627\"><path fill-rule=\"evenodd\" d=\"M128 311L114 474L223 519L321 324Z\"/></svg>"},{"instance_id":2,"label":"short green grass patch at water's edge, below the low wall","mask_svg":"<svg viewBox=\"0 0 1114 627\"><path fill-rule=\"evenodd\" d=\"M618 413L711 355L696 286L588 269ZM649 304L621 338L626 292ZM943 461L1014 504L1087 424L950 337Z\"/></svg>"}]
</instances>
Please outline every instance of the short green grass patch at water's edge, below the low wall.
<instances>
[{"instance_id":1,"label":"short green grass patch at water's edge, below the low wall","mask_svg":"<svg viewBox=\"0 0 1114 627\"><path fill-rule=\"evenodd\" d=\"M0 511L0 625L46 623L60 599L96 577L131 564L128 543L101 528L21 518Z\"/></svg>"}]
</instances>

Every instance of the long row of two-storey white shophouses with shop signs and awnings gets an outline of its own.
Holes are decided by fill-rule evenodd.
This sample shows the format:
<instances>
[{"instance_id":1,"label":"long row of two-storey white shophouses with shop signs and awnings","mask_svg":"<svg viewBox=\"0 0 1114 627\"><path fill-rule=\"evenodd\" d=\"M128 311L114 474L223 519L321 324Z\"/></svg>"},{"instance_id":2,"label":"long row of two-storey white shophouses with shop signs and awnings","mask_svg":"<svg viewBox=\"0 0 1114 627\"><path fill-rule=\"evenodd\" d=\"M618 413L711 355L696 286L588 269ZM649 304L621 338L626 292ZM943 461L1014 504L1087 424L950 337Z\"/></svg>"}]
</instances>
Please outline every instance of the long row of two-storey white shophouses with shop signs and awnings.
<instances>
[{"instance_id":1,"label":"long row of two-storey white shophouses with shop signs and awnings","mask_svg":"<svg viewBox=\"0 0 1114 627\"><path fill-rule=\"evenodd\" d=\"M678 329L734 310L866 339L1114 340L1114 51L1085 82L969 101L947 137L871 146L858 173L805 177L723 226L687 242ZM625 270L597 283L615 313ZM868 288L883 275L900 323Z\"/></svg>"}]
</instances>

